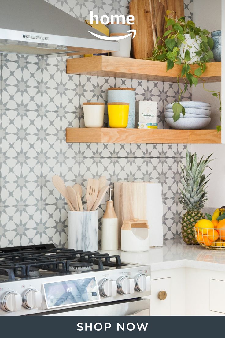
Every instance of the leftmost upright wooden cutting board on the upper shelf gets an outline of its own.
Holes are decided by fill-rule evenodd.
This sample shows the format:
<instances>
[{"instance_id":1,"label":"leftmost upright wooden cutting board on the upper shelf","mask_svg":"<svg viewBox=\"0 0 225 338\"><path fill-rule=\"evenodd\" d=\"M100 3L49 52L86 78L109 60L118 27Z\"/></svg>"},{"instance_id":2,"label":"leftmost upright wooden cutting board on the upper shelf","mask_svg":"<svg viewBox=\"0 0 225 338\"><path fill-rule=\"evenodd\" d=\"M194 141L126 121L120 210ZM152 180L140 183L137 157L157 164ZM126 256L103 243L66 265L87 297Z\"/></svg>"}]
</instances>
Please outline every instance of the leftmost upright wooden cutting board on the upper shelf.
<instances>
[{"instance_id":1,"label":"leftmost upright wooden cutting board on the upper shelf","mask_svg":"<svg viewBox=\"0 0 225 338\"><path fill-rule=\"evenodd\" d=\"M154 47L152 19L149 0L132 0L130 2L130 14L134 16L134 25L137 33L132 39L133 58L141 59L151 57Z\"/></svg>"}]
</instances>

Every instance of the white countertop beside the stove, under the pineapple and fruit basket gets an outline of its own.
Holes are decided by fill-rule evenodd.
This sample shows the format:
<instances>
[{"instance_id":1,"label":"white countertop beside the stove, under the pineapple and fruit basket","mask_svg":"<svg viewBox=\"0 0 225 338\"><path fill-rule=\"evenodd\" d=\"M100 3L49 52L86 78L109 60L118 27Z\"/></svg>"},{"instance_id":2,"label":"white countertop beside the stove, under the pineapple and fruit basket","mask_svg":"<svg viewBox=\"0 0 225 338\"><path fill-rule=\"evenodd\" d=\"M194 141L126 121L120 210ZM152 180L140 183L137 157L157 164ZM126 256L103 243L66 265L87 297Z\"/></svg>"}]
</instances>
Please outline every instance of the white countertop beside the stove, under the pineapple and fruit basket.
<instances>
[{"instance_id":1,"label":"white countertop beside the stove, under the pineapple and fruit basket","mask_svg":"<svg viewBox=\"0 0 225 338\"><path fill-rule=\"evenodd\" d=\"M151 271L191 267L224 271L225 250L205 249L200 245L187 245L182 239L167 239L163 246L152 247L145 252L125 252L122 250L103 251L119 255L122 262L150 264Z\"/></svg>"}]
</instances>

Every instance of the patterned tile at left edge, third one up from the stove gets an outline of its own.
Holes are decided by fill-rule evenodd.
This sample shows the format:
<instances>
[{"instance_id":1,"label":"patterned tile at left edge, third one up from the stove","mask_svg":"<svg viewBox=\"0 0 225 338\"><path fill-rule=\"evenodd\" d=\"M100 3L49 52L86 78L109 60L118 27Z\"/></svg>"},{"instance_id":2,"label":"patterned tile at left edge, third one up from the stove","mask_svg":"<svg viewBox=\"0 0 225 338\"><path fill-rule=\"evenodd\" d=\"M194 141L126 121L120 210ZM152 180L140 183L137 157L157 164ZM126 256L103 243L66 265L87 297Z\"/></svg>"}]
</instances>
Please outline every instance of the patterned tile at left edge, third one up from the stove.
<instances>
[{"instance_id":1,"label":"patterned tile at left edge, third one up from the stove","mask_svg":"<svg viewBox=\"0 0 225 338\"><path fill-rule=\"evenodd\" d=\"M40 111L2 110L2 158L34 158L41 156Z\"/></svg>"}]
</instances>

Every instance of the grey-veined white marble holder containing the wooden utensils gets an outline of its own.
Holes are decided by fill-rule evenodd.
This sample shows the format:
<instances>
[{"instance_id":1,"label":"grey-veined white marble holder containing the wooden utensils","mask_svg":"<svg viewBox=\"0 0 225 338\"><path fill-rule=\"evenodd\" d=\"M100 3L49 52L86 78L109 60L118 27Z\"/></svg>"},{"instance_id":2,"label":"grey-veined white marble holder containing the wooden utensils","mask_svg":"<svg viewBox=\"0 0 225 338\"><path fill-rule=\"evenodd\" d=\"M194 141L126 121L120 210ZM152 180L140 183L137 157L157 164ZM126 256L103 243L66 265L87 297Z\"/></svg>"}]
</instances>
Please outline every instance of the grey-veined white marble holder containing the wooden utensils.
<instances>
[{"instance_id":1,"label":"grey-veined white marble holder containing the wooden utensils","mask_svg":"<svg viewBox=\"0 0 225 338\"><path fill-rule=\"evenodd\" d=\"M68 211L68 248L83 251L97 251L97 210Z\"/></svg>"}]
</instances>

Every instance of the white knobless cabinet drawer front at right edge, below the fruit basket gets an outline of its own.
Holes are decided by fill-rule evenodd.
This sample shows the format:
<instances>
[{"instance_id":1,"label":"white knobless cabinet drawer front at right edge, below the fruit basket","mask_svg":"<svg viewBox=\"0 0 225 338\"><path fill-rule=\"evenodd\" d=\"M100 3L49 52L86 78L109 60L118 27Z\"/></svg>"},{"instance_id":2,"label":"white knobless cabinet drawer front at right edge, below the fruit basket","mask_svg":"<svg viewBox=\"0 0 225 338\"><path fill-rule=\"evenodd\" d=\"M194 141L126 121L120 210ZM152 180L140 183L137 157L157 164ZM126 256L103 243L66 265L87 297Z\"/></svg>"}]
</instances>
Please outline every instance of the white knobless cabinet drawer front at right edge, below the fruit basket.
<instances>
[{"instance_id":1,"label":"white knobless cabinet drawer front at right edge, below the fruit basket","mask_svg":"<svg viewBox=\"0 0 225 338\"><path fill-rule=\"evenodd\" d=\"M210 311L225 313L225 281L210 279Z\"/></svg>"}]
</instances>

